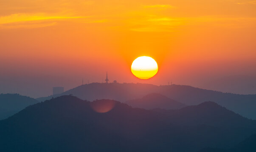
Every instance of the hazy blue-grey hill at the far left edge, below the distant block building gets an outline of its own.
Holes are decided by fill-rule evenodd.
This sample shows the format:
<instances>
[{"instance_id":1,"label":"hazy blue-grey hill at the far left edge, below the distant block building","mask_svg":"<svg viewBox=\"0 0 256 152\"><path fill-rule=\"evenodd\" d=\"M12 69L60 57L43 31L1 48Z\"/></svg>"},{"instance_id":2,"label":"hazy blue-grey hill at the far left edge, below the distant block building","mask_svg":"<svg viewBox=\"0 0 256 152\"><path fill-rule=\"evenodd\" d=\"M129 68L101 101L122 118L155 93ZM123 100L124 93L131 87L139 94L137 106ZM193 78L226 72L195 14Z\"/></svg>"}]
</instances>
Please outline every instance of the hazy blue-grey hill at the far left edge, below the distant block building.
<instances>
[{"instance_id":1,"label":"hazy blue-grey hill at the far left edge, below the distant block building","mask_svg":"<svg viewBox=\"0 0 256 152\"><path fill-rule=\"evenodd\" d=\"M35 103L38 103L38 101L27 96L19 94L0 94L0 120L6 119Z\"/></svg>"}]
</instances>

